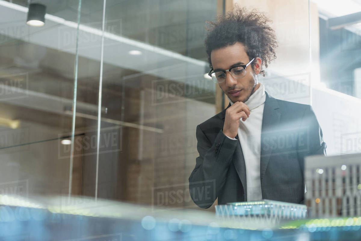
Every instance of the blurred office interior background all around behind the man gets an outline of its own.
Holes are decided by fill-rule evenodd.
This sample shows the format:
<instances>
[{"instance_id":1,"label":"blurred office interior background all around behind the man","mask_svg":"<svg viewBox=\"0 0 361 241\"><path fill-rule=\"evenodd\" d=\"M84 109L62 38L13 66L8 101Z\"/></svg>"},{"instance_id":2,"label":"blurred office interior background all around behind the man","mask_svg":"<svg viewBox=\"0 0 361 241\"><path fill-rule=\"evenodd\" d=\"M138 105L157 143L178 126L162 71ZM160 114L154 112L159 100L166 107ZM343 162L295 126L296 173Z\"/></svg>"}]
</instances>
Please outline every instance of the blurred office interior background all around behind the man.
<instances>
[{"instance_id":1,"label":"blurred office interior background all around behind the man","mask_svg":"<svg viewBox=\"0 0 361 241\"><path fill-rule=\"evenodd\" d=\"M26 24L28 1L0 0L2 195L213 213L188 177L197 124L229 103L206 75L206 21L235 4L273 20L266 91L312 105L327 155L361 152L360 0L33 2L44 26Z\"/></svg>"}]
</instances>

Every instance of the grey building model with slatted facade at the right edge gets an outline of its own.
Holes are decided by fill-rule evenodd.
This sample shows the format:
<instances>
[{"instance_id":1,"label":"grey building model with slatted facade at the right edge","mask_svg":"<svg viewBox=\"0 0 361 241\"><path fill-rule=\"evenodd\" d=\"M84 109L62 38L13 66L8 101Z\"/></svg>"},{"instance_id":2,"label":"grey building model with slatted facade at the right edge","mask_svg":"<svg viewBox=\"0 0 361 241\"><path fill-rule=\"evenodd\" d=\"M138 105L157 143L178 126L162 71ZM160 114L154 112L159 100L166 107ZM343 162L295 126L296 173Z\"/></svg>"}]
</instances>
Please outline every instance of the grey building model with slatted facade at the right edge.
<instances>
[{"instance_id":1,"label":"grey building model with slatted facade at the right edge","mask_svg":"<svg viewBox=\"0 0 361 241\"><path fill-rule=\"evenodd\" d=\"M361 154L305 158L310 217L361 216Z\"/></svg>"}]
</instances>

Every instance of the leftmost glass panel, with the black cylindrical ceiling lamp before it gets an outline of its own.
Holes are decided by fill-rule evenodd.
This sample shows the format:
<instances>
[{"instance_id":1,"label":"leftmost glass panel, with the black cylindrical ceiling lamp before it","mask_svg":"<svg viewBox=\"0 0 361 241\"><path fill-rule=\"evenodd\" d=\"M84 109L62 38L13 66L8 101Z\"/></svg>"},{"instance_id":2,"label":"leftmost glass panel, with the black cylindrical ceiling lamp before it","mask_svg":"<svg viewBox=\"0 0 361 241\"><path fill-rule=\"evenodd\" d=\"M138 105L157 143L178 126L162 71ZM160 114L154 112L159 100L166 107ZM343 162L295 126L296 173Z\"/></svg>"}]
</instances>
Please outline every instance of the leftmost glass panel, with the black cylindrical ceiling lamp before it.
<instances>
[{"instance_id":1,"label":"leftmost glass panel, with the black cylindrical ceiling lamp before it","mask_svg":"<svg viewBox=\"0 0 361 241\"><path fill-rule=\"evenodd\" d=\"M31 27L26 2L0 4L1 194L68 194L77 7L66 19L73 25L47 17ZM62 4L52 3L48 13L57 15Z\"/></svg>"}]
</instances>

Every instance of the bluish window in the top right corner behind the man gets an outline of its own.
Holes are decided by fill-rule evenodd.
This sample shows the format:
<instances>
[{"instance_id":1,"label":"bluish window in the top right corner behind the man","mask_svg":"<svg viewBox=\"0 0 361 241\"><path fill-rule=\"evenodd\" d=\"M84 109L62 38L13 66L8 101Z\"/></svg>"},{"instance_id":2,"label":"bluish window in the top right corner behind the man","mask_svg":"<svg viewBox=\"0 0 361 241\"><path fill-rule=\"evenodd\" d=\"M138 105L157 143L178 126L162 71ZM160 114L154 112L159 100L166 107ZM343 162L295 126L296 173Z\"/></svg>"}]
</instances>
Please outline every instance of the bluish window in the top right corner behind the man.
<instances>
[{"instance_id":1,"label":"bluish window in the top right corner behind the man","mask_svg":"<svg viewBox=\"0 0 361 241\"><path fill-rule=\"evenodd\" d=\"M357 16L346 17L361 11L360 1L346 1L341 8L320 0L315 5L319 12L321 82L327 88L360 98L360 78L355 73L360 67L355 60L361 48L360 23ZM347 62L347 66L341 66Z\"/></svg>"}]
</instances>

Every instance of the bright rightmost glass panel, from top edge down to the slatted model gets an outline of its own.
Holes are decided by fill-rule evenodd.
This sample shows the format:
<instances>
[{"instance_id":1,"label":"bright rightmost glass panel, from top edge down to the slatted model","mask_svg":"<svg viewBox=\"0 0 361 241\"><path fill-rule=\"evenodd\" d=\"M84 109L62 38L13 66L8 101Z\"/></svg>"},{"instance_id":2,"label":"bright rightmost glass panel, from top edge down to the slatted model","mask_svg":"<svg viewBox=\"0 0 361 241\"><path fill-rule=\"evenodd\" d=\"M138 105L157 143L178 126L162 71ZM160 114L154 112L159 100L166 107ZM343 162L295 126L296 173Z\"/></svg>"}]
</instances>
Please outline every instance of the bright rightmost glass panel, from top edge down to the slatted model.
<instances>
[{"instance_id":1,"label":"bright rightmost glass panel, from top edge down to the slatted model","mask_svg":"<svg viewBox=\"0 0 361 241\"><path fill-rule=\"evenodd\" d=\"M360 1L315 0L313 24L319 31L319 88L314 109L326 126L330 155L361 152L360 111ZM317 44L317 43L316 43ZM327 103L327 104L324 104ZM327 124L329 123L329 125ZM328 126L327 126L328 125Z\"/></svg>"}]
</instances>

